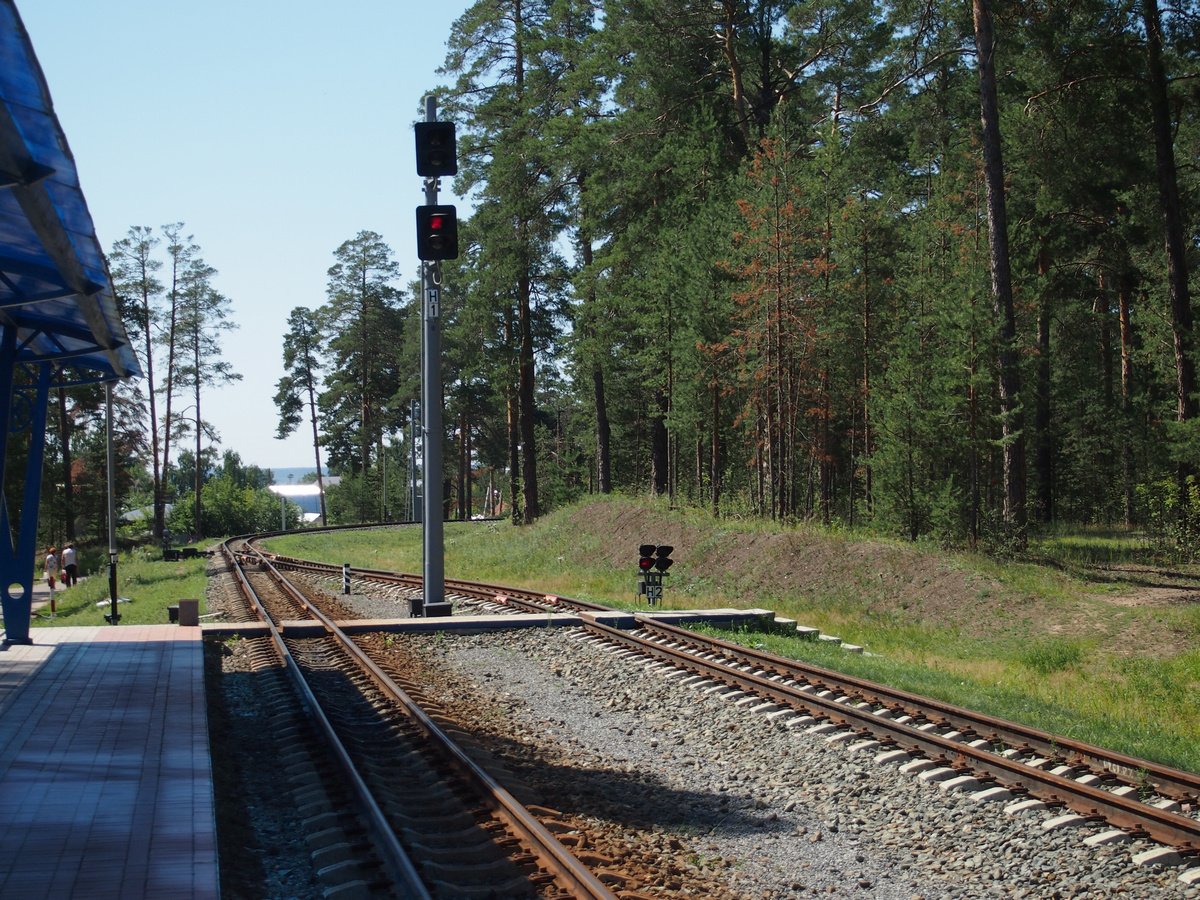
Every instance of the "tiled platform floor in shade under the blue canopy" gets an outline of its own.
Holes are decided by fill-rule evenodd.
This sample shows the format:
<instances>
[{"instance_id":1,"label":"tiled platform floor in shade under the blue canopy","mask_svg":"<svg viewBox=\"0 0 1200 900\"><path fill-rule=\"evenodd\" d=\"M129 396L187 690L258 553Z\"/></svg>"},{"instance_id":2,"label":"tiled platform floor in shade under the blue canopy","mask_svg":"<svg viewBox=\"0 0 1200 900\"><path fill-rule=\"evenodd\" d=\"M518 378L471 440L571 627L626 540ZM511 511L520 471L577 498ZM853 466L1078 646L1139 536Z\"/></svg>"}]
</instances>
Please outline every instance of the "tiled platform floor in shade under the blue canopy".
<instances>
[{"instance_id":1,"label":"tiled platform floor in shade under the blue canopy","mask_svg":"<svg viewBox=\"0 0 1200 900\"><path fill-rule=\"evenodd\" d=\"M217 898L200 629L31 637L0 650L0 896Z\"/></svg>"}]
</instances>

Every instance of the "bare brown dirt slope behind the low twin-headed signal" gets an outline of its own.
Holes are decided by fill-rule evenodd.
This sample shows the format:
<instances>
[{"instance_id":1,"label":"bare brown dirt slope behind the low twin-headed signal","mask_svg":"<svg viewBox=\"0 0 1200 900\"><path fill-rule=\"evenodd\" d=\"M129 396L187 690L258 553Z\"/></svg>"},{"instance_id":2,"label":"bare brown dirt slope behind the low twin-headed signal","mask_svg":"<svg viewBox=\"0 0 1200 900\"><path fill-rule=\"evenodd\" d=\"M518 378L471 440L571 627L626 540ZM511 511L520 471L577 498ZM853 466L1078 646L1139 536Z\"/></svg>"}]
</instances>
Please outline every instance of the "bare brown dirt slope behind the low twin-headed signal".
<instances>
[{"instance_id":1,"label":"bare brown dirt slope behind the low twin-headed signal","mask_svg":"<svg viewBox=\"0 0 1200 900\"><path fill-rule=\"evenodd\" d=\"M571 541L594 547L614 566L629 565L644 542L674 546L670 588L690 593L712 586L738 605L768 608L820 607L918 624L948 626L965 635L1067 635L1120 644L1130 638L1162 650L1182 649L1187 629L1145 607L1176 607L1200 600L1195 574L1142 568L1048 571L1044 581L1062 589L1040 596L973 570L966 557L936 553L887 541L860 541L816 529L739 529L689 512L594 500L570 510L559 522ZM1102 584L1126 582L1116 592ZM1094 583L1093 589L1087 581Z\"/></svg>"}]
</instances>

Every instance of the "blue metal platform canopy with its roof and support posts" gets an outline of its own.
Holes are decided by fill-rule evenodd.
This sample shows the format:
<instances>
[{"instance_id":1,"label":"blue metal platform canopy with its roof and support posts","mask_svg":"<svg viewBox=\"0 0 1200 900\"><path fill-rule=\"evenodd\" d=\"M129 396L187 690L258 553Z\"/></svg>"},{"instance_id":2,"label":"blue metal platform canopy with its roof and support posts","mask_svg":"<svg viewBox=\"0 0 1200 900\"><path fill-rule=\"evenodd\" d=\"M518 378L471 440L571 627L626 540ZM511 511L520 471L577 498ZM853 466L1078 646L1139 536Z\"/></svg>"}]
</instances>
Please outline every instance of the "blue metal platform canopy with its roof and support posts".
<instances>
[{"instance_id":1,"label":"blue metal platform canopy with its roof and support posts","mask_svg":"<svg viewBox=\"0 0 1200 900\"><path fill-rule=\"evenodd\" d=\"M18 378L22 368L30 374ZM11 436L29 434L18 522L10 521L7 492L0 498L7 643L30 643L47 404L58 372L70 373L70 384L142 374L46 77L13 0L0 0L0 490Z\"/></svg>"}]
</instances>

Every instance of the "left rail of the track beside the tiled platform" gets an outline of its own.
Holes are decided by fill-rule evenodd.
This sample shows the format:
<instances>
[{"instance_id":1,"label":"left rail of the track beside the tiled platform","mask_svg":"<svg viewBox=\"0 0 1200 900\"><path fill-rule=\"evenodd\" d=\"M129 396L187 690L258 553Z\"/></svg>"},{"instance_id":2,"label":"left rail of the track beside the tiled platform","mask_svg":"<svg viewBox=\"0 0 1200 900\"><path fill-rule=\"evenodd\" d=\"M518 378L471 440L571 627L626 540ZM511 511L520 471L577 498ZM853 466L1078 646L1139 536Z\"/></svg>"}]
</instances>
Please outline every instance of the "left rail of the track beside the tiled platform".
<instances>
[{"instance_id":1,"label":"left rail of the track beside the tiled platform","mask_svg":"<svg viewBox=\"0 0 1200 900\"><path fill-rule=\"evenodd\" d=\"M421 876L418 874L416 866L413 865L412 858L400 844L400 840L396 838L396 833L392 830L386 816L384 816L383 810L379 809L379 804L376 803L374 797L371 794L371 790L367 787L361 775L359 775L354 762L350 760L349 751L346 749L344 744L342 744L341 738L337 737L337 732L335 731L332 724L320 708L320 703L313 695L308 683L300 673L300 666L296 665L296 661L293 659L292 652L283 641L282 634L280 634L275 623L271 622L271 617L266 614L266 610L259 600L258 593L253 587L251 587L250 580L246 578L246 574L242 571L242 565L238 560L236 553L228 546L229 542L230 541L226 541L226 544L222 544L221 548L224 552L226 558L232 564L232 569L238 577L238 582L241 586L246 599L251 601L251 604L257 608L259 617L264 623L266 623L271 635L271 642L275 644L280 658L283 660L283 667L292 679L293 685L300 692L305 710L312 718L313 722L316 722L318 731L325 738L326 745L332 751L338 767L346 775L352 794L360 804L360 808L365 814L366 824L371 832L374 845L380 851L384 866L391 875L397 889L404 892L404 896L412 896L414 900L432 900L432 895L425 887L425 882L421 881Z\"/></svg>"}]
</instances>

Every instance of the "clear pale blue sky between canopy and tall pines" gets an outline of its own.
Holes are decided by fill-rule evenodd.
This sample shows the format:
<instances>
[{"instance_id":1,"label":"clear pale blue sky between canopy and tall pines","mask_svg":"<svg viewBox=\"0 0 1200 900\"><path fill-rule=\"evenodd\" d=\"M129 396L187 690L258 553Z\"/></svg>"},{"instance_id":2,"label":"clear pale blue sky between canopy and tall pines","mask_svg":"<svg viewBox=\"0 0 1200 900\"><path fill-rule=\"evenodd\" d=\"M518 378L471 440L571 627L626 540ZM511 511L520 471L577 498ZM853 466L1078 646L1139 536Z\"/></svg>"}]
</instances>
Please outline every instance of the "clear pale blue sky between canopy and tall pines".
<instances>
[{"instance_id":1,"label":"clear pale blue sky between canopy and tall pines","mask_svg":"<svg viewBox=\"0 0 1200 900\"><path fill-rule=\"evenodd\" d=\"M223 355L242 380L203 413L246 463L313 464L304 427L275 438L271 396L288 313L324 302L337 246L378 232L403 283L416 277L412 126L468 6L17 0L101 246L181 221L218 271L240 325Z\"/></svg>"}]
</instances>

